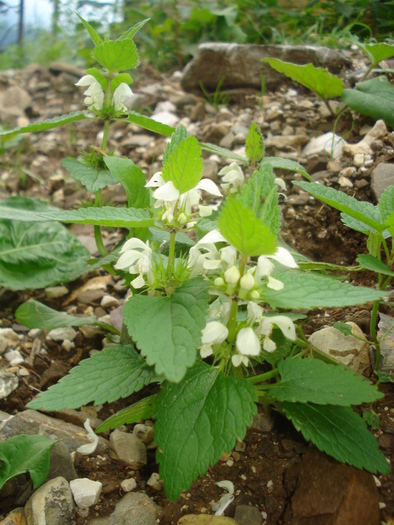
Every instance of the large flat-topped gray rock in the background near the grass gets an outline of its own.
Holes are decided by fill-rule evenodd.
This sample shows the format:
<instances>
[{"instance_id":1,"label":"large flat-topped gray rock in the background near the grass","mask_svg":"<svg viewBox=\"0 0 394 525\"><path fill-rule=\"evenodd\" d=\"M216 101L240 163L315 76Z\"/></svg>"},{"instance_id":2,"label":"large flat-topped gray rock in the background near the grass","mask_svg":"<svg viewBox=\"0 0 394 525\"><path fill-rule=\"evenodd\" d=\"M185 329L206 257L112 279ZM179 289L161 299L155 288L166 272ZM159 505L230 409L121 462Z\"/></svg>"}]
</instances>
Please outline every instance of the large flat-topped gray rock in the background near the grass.
<instances>
[{"instance_id":1,"label":"large flat-topped gray rock in the background near the grass","mask_svg":"<svg viewBox=\"0 0 394 525\"><path fill-rule=\"evenodd\" d=\"M261 62L262 58L278 58L296 64L312 63L337 73L351 66L343 53L327 47L205 43L198 47L193 60L183 72L184 91L199 92L200 82L214 91L224 76L222 89L261 89L261 76L272 89L283 84L286 77Z\"/></svg>"}]
</instances>

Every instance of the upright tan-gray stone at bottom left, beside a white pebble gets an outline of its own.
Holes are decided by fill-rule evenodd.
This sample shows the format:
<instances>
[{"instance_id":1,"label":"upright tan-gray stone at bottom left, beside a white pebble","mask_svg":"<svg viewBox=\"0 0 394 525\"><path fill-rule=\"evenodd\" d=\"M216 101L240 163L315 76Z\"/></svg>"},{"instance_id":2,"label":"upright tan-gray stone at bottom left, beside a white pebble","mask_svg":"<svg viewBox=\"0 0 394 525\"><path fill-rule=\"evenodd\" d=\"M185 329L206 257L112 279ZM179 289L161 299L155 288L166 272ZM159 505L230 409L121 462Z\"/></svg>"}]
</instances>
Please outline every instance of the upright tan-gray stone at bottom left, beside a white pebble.
<instances>
[{"instance_id":1,"label":"upright tan-gray stone at bottom left, beside a white pebble","mask_svg":"<svg viewBox=\"0 0 394 525\"><path fill-rule=\"evenodd\" d=\"M59 476L37 489L25 506L27 525L75 525L75 506L67 481Z\"/></svg>"}]
</instances>

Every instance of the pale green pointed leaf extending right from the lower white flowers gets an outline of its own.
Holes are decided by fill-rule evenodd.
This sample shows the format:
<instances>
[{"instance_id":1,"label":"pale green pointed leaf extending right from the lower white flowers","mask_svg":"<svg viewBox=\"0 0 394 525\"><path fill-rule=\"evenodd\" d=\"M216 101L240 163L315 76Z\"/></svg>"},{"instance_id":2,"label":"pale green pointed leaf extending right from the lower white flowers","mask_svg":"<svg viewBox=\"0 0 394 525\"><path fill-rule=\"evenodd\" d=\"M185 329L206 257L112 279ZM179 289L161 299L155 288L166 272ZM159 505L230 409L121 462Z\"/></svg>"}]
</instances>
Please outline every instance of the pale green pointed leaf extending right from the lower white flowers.
<instances>
[{"instance_id":1,"label":"pale green pointed leaf extending right from the lower white flowers","mask_svg":"<svg viewBox=\"0 0 394 525\"><path fill-rule=\"evenodd\" d=\"M341 283L330 276L277 266L273 276L284 284L282 290L266 288L264 300L272 308L299 310L302 308L331 308L353 306L378 301L386 292Z\"/></svg>"}]
</instances>

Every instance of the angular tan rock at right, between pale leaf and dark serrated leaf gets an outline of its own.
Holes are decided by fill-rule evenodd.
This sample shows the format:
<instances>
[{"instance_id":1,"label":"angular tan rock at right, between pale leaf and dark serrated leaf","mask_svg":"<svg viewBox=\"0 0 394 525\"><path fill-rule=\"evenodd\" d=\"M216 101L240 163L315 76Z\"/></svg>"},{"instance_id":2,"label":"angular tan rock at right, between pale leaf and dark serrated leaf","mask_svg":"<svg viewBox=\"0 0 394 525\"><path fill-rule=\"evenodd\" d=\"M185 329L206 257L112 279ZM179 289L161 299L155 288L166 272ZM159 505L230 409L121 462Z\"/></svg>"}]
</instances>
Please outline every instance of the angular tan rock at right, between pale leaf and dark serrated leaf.
<instances>
[{"instance_id":1,"label":"angular tan rock at right, between pale leaf and dark serrated leaf","mask_svg":"<svg viewBox=\"0 0 394 525\"><path fill-rule=\"evenodd\" d=\"M352 322L346 323L352 327L352 332L366 338L364 332ZM319 350L348 366L358 374L369 375L370 359L369 345L359 339L346 336L333 326L322 328L309 337L309 342Z\"/></svg>"}]
</instances>

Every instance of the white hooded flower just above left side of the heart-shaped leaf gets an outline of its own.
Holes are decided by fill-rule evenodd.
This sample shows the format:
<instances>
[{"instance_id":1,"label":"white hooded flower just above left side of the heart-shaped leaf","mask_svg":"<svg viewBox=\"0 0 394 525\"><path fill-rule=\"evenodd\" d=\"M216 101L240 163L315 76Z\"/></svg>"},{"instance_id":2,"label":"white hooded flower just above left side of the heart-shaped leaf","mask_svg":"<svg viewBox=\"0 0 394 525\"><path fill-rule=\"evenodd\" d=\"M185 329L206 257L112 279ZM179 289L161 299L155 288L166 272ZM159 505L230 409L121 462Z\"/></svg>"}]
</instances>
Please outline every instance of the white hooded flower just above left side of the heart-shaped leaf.
<instances>
[{"instance_id":1,"label":"white hooded flower just above left side of the heart-shaped leaf","mask_svg":"<svg viewBox=\"0 0 394 525\"><path fill-rule=\"evenodd\" d=\"M131 282L134 288L142 288L145 285L144 275L146 275L148 282L152 282L152 250L148 244L133 237L123 245L120 253L122 255L114 268L128 270L131 274L138 273L138 277Z\"/></svg>"}]
</instances>

